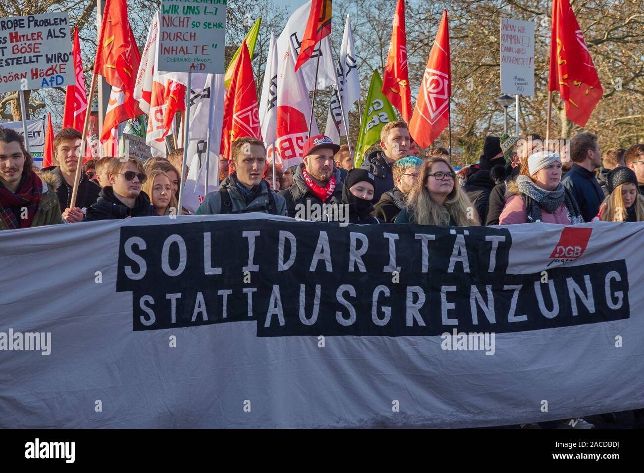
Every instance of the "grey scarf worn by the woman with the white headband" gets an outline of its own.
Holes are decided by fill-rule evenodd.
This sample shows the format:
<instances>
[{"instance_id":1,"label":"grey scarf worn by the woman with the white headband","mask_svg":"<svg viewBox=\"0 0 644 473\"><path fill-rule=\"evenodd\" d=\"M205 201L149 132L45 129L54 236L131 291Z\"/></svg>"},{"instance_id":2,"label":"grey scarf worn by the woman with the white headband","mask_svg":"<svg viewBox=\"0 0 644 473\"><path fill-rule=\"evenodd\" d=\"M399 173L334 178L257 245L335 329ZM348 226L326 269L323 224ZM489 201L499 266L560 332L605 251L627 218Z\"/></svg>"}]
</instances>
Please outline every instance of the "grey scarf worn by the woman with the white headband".
<instances>
[{"instance_id":1,"label":"grey scarf worn by the woman with the white headband","mask_svg":"<svg viewBox=\"0 0 644 473\"><path fill-rule=\"evenodd\" d=\"M542 209L552 214L562 204L565 204L571 223L583 223L582 212L577 202L562 183L558 183L554 190L545 190L536 185L529 176L520 174L516 176L516 184L526 201L528 221L541 221Z\"/></svg>"}]
</instances>

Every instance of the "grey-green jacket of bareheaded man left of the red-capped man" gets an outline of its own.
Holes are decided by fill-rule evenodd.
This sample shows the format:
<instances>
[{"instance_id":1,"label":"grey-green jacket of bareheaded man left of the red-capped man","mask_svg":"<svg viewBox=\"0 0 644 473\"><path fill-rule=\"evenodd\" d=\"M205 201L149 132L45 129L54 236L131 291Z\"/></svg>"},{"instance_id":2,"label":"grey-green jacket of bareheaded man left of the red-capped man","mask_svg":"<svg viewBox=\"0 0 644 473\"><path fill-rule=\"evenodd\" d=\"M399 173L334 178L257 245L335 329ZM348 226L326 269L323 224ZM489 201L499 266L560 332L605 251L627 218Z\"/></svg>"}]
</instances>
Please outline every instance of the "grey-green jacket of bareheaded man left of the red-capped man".
<instances>
[{"instance_id":1,"label":"grey-green jacket of bareheaded man left of the red-capped man","mask_svg":"<svg viewBox=\"0 0 644 473\"><path fill-rule=\"evenodd\" d=\"M230 206L222 206L222 196L226 190L229 197ZM246 214L248 212L263 212L265 214L286 215L286 202L283 197L269 189L265 180L261 180L252 194L245 194L237 185L237 173L232 172L220 184L219 189L209 192L204 201L199 206L196 214L216 215L216 214ZM270 192L270 197L269 197ZM271 204L271 198L273 203ZM229 207L228 211L222 210L222 207Z\"/></svg>"}]
</instances>

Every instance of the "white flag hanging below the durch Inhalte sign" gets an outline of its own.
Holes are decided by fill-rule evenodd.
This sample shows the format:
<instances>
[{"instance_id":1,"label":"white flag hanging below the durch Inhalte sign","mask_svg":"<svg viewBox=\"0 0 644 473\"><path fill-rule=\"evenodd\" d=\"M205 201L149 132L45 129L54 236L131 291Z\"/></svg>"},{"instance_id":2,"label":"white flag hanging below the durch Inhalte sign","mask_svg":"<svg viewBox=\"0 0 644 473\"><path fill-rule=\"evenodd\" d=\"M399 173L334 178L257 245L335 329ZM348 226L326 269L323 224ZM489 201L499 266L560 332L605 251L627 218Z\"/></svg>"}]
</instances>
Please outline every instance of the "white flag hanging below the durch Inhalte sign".
<instances>
[{"instance_id":1,"label":"white flag hanging below the durch Inhalte sign","mask_svg":"<svg viewBox=\"0 0 644 473\"><path fill-rule=\"evenodd\" d=\"M194 76L193 74L193 81ZM219 152L220 145L222 144L222 127L223 127L223 99L225 97L225 88L223 86L223 74L208 74L207 82L204 84L202 91L208 89L209 97L200 98L200 109L203 110L200 118L196 118L197 121L204 121L205 124L208 123L207 120L210 120L210 148L209 148L209 160L208 160L208 192L213 192L217 190L219 183L218 176L218 163L219 163ZM192 90L192 94L195 95L198 93L198 89ZM191 106L192 107L192 106ZM208 115L205 115L205 113ZM193 114L191 109L191 125L188 133L192 132L192 123L193 123ZM202 124L198 124L198 129L202 130L199 133L203 133L204 127ZM205 135L207 136L208 127L205 127ZM196 138L196 136L195 136ZM189 137L189 140L192 140L192 135ZM187 180L185 181L185 194L183 205L185 209L196 212L199 205L204 201L205 196L205 169L206 169L206 153L205 153L205 140L198 140L196 149L198 151L194 154L190 154L190 148L188 149L188 157L190 165L190 171L188 172Z\"/></svg>"}]
</instances>

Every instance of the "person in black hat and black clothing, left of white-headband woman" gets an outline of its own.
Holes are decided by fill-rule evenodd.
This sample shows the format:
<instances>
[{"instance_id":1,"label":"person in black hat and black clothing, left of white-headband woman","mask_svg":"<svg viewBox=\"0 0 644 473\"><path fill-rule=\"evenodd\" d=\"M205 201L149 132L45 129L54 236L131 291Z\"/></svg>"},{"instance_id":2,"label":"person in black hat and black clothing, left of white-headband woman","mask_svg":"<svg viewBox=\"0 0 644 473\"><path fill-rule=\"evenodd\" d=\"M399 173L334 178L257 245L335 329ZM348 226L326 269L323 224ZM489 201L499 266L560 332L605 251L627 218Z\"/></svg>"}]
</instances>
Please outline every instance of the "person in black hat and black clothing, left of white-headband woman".
<instances>
[{"instance_id":1,"label":"person in black hat and black clothing, left of white-headband woman","mask_svg":"<svg viewBox=\"0 0 644 473\"><path fill-rule=\"evenodd\" d=\"M497 185L491 176L495 166L506 165L498 136L488 136L483 145L480 163L471 165L466 174L464 189L478 212L479 221L484 224L488 216L489 194Z\"/></svg>"}]
</instances>

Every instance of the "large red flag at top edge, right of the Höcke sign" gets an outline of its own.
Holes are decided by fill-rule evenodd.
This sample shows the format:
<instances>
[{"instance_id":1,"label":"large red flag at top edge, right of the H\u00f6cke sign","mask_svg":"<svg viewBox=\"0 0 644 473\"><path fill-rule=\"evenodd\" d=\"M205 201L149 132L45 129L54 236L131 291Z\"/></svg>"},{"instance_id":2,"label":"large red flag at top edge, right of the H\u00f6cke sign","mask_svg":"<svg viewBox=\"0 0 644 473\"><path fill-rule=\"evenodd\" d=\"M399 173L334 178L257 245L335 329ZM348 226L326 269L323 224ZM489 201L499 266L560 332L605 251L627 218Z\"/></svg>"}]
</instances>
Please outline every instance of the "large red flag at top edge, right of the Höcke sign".
<instances>
[{"instance_id":1,"label":"large red flag at top edge, right of the H\u00f6cke sign","mask_svg":"<svg viewBox=\"0 0 644 473\"><path fill-rule=\"evenodd\" d=\"M133 97L140 62L141 55L128 22L126 1L107 0L100 24L94 73L104 76L108 84L116 88L117 93L122 92L123 96L118 100L120 110L112 113L109 120L106 112L106 119L103 120L103 129L100 133L101 140L108 139L111 129L120 122L128 118L137 118L143 113ZM113 102L113 97L110 97L110 102ZM116 102L111 103L111 105L116 104ZM114 120L120 120L120 122Z\"/></svg>"}]
</instances>

